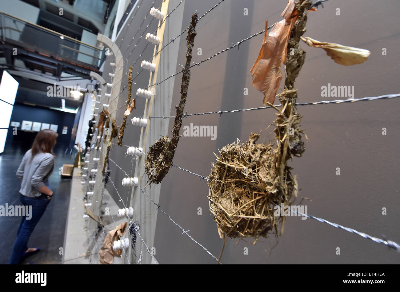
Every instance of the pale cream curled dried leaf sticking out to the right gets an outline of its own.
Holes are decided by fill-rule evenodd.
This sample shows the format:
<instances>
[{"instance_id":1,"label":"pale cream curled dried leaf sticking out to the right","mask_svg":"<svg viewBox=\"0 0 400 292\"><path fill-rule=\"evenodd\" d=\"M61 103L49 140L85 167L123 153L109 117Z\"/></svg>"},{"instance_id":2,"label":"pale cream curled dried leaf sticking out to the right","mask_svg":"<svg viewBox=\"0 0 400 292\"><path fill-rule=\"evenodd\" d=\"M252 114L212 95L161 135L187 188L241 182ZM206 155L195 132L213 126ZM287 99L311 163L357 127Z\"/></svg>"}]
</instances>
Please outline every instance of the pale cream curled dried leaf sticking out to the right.
<instances>
[{"instance_id":1,"label":"pale cream curled dried leaf sticking out to the right","mask_svg":"<svg viewBox=\"0 0 400 292\"><path fill-rule=\"evenodd\" d=\"M301 39L310 47L320 47L326 51L335 63L340 65L350 66L361 64L368 59L370 51L359 49L357 47L347 47L338 43L326 43L317 41L310 37L301 37Z\"/></svg>"}]
</instances>

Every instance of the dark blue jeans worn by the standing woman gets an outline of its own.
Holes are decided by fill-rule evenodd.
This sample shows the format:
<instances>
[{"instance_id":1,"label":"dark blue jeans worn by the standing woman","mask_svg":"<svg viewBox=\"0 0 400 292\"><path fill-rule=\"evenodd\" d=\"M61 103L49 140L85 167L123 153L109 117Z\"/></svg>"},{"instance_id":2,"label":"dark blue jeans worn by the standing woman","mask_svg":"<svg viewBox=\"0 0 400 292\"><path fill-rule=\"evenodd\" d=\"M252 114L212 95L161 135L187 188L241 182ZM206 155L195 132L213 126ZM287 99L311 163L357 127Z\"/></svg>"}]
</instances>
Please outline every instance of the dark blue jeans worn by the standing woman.
<instances>
[{"instance_id":1,"label":"dark blue jeans worn by the standing woman","mask_svg":"<svg viewBox=\"0 0 400 292\"><path fill-rule=\"evenodd\" d=\"M32 206L32 214L29 220L26 219L26 216L22 217L9 264L19 264L21 255L28 249L29 237L50 202L46 195L41 195L40 197L26 197L20 194L20 199L22 205L25 205L26 208Z\"/></svg>"}]
</instances>

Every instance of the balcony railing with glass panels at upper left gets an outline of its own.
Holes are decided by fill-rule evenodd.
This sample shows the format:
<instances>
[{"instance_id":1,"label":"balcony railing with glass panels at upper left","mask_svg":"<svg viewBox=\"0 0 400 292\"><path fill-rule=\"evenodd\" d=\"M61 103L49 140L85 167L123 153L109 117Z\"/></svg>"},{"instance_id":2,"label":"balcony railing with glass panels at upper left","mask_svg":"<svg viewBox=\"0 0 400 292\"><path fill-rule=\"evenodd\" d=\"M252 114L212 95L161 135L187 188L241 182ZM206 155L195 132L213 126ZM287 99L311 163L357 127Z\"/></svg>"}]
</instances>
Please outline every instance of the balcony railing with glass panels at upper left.
<instances>
[{"instance_id":1,"label":"balcony railing with glass panels at upper left","mask_svg":"<svg viewBox=\"0 0 400 292\"><path fill-rule=\"evenodd\" d=\"M4 43L50 55L74 64L98 67L102 50L72 37L0 12L0 36Z\"/></svg>"}]
</instances>

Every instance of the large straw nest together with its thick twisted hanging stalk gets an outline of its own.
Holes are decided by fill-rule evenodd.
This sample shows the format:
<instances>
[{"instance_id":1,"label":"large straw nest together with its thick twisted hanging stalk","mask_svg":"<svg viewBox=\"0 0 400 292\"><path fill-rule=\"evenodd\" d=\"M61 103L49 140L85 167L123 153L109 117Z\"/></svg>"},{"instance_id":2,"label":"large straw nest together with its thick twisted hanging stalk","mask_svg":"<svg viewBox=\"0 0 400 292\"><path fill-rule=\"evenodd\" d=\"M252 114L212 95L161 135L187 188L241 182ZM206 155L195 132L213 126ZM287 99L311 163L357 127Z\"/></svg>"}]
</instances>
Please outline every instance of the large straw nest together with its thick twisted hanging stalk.
<instances>
[{"instance_id":1,"label":"large straw nest together with its thick twisted hanging stalk","mask_svg":"<svg viewBox=\"0 0 400 292\"><path fill-rule=\"evenodd\" d=\"M277 54L278 59L282 51L286 52L285 89L279 95L282 109L266 103L279 112L275 121L275 148L272 142L254 144L259 135L252 133L246 144L238 141L222 148L208 176L210 213L214 215L221 238L225 234L232 238L253 237L257 241L259 236L267 237L270 231L282 235L286 217L275 216L274 206L291 205L298 195L296 176L291 174L287 161L304 152L300 136L303 132L298 127L301 116L294 107L297 90L293 85L304 63L305 52L298 41L306 31L307 11L312 2L299 0L290 8L292 3L290 0L282 13L284 21L292 26L287 47L282 50L272 46L263 52ZM270 68L273 71L273 66ZM268 75L264 77L268 79Z\"/></svg>"}]
</instances>

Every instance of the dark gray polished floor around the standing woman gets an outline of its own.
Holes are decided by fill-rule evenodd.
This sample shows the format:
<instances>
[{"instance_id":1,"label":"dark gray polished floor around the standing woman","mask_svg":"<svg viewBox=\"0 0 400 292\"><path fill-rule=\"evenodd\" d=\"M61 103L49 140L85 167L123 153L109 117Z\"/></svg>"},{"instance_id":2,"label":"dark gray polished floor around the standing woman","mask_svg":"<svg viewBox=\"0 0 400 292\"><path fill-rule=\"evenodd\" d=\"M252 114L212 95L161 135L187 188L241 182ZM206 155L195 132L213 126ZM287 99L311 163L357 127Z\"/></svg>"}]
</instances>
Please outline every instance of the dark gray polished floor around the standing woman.
<instances>
[{"instance_id":1,"label":"dark gray polished floor around the standing woman","mask_svg":"<svg viewBox=\"0 0 400 292\"><path fill-rule=\"evenodd\" d=\"M0 155L0 205L21 204L18 193L20 180L15 176L15 172L29 147L30 145L22 143L6 143L6 148ZM54 147L56 162L49 183L55 197L49 203L28 242L28 247L40 247L41 251L30 256L24 263L61 263L60 247L64 245L71 180L62 179L58 172L62 164L74 164L76 154L74 151L72 157L69 154L64 155L66 147L68 145L65 144L56 144ZM3 235L0 241L0 264L8 264L20 220L20 217L0 217L0 234Z\"/></svg>"}]
</instances>

